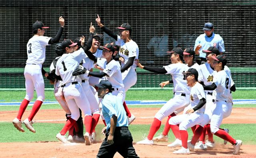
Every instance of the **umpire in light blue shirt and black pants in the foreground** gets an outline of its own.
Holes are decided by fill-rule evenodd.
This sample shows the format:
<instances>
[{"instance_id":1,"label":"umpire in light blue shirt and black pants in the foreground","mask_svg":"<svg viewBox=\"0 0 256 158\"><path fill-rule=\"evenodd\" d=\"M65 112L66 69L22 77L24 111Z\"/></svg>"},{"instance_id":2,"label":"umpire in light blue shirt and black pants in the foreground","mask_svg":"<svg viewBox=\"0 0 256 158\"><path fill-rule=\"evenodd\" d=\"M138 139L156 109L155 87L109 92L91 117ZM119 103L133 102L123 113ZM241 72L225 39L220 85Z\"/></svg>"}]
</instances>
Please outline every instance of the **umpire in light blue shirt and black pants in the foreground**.
<instances>
[{"instance_id":1,"label":"umpire in light blue shirt and black pants in the foreground","mask_svg":"<svg viewBox=\"0 0 256 158\"><path fill-rule=\"evenodd\" d=\"M106 138L97 158L113 158L116 152L124 158L139 158L132 145L122 98L112 95L112 85L108 80L101 80L95 86L98 87L98 98L102 98L102 113L107 124Z\"/></svg>"}]
</instances>

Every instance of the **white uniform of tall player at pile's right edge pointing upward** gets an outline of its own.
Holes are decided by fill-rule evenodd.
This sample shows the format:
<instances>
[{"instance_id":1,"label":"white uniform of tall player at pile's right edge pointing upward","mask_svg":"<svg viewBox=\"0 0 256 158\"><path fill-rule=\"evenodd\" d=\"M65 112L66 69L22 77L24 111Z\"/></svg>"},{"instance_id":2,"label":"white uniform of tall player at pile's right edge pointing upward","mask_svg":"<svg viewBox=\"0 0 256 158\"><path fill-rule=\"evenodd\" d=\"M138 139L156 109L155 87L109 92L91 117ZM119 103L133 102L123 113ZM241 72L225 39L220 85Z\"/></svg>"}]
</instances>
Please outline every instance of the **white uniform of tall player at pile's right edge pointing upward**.
<instances>
[{"instance_id":1,"label":"white uniform of tall player at pile's right edge pointing upward","mask_svg":"<svg viewBox=\"0 0 256 158\"><path fill-rule=\"evenodd\" d=\"M130 57L139 57L139 47L133 40L125 43L123 39L118 35L116 45L120 45L119 55L124 58L124 62L121 63L123 67ZM122 72L122 80L124 83L125 92L137 82L136 63L133 62L132 66Z\"/></svg>"}]
</instances>

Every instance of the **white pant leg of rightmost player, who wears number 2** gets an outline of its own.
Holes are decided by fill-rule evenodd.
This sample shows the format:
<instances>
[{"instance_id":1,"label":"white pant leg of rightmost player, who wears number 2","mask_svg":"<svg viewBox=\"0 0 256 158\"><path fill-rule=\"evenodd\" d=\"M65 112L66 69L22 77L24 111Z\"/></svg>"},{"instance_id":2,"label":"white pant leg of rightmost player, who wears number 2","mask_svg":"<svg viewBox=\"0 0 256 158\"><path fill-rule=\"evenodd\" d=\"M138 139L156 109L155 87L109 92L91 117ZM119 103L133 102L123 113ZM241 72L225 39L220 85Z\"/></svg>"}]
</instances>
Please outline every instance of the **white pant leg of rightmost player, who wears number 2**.
<instances>
[{"instance_id":1,"label":"white pant leg of rightmost player, who wears number 2","mask_svg":"<svg viewBox=\"0 0 256 158\"><path fill-rule=\"evenodd\" d=\"M226 108L226 106L227 103L225 101L216 101L216 107L212 111L212 118L210 122L210 128L213 134L219 130L223 120L223 108Z\"/></svg>"}]
</instances>

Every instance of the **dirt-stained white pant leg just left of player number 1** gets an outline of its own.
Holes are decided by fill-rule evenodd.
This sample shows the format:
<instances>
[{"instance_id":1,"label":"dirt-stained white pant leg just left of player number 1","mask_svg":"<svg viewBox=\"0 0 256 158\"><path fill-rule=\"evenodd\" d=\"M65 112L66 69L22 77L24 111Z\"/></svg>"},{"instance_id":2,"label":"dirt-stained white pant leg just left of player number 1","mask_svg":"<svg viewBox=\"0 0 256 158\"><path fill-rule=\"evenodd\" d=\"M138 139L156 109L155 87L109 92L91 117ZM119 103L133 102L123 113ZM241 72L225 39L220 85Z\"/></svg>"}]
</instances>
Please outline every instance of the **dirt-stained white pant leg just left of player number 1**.
<instances>
[{"instance_id":1,"label":"dirt-stained white pant leg just left of player number 1","mask_svg":"<svg viewBox=\"0 0 256 158\"><path fill-rule=\"evenodd\" d=\"M54 88L54 96L55 99L58 101L62 109L66 112L66 114L70 114L71 111L68 108L68 104L66 103L66 100L64 98L64 94L62 92L63 88L62 87L55 87Z\"/></svg>"}]
</instances>

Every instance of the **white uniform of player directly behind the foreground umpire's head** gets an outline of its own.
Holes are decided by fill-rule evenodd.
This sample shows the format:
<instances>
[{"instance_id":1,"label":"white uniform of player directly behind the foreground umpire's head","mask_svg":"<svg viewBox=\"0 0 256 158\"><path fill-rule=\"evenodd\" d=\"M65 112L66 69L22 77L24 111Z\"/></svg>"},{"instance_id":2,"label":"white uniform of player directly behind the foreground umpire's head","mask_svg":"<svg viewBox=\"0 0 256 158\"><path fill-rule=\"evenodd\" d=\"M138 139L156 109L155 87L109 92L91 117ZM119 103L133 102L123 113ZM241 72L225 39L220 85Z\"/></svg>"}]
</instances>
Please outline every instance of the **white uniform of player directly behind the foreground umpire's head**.
<instances>
[{"instance_id":1,"label":"white uniform of player directly behind the foreground umpire's head","mask_svg":"<svg viewBox=\"0 0 256 158\"><path fill-rule=\"evenodd\" d=\"M112 84L112 94L114 96L119 96L122 98L124 102L125 99L125 90L124 84L122 80L122 73L120 71L121 66L118 61L111 60L107 63L107 60L104 58L98 58L97 64L104 68L102 72L106 73L107 75L104 76L106 80L108 80Z\"/></svg>"}]
</instances>

